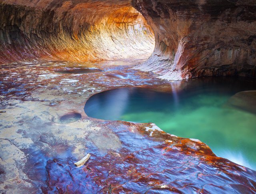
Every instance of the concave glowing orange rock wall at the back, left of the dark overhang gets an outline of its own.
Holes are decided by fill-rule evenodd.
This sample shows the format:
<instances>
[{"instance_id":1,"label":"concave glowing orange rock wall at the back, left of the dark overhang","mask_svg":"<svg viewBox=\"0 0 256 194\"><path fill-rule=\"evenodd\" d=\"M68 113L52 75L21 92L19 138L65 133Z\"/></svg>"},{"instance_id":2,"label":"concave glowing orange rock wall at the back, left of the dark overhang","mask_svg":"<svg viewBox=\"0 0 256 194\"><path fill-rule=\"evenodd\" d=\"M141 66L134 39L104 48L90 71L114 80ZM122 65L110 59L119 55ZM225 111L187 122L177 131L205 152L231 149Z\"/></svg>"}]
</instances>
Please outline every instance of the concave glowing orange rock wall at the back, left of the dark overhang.
<instances>
[{"instance_id":1,"label":"concave glowing orange rock wall at the back, left of the dark overhang","mask_svg":"<svg viewBox=\"0 0 256 194\"><path fill-rule=\"evenodd\" d=\"M0 0L0 63L150 56L154 43L128 0Z\"/></svg>"}]
</instances>

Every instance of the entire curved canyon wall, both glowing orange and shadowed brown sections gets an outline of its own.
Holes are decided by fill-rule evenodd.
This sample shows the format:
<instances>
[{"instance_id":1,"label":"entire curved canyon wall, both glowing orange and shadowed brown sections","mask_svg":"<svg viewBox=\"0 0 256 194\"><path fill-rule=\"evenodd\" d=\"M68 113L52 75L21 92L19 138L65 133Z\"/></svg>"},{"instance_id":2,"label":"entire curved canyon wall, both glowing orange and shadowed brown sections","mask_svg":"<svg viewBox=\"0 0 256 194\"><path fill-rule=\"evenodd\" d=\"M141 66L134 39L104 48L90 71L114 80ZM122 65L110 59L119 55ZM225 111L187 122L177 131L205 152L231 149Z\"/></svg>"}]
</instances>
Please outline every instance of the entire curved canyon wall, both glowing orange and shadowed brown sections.
<instances>
[{"instance_id":1,"label":"entire curved canyon wall, both glowing orange and shadowed brown sections","mask_svg":"<svg viewBox=\"0 0 256 194\"><path fill-rule=\"evenodd\" d=\"M164 79L256 77L256 2L0 0L0 63L151 53L135 68Z\"/></svg>"}]
</instances>

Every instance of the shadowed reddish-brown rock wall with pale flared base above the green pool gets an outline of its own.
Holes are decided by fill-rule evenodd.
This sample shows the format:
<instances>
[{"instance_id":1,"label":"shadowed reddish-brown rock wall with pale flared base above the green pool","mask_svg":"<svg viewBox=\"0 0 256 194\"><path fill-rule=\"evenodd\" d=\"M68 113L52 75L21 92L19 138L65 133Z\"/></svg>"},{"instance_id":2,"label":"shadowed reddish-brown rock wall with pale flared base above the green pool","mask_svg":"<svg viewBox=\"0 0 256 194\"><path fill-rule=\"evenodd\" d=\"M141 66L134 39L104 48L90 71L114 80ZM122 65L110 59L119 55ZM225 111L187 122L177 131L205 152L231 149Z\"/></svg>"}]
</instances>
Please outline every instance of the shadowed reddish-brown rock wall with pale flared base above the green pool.
<instances>
[{"instance_id":1,"label":"shadowed reddish-brown rock wall with pale flared base above the green pool","mask_svg":"<svg viewBox=\"0 0 256 194\"><path fill-rule=\"evenodd\" d=\"M138 69L178 80L256 77L255 0L131 0L154 30L156 47Z\"/></svg>"}]
</instances>

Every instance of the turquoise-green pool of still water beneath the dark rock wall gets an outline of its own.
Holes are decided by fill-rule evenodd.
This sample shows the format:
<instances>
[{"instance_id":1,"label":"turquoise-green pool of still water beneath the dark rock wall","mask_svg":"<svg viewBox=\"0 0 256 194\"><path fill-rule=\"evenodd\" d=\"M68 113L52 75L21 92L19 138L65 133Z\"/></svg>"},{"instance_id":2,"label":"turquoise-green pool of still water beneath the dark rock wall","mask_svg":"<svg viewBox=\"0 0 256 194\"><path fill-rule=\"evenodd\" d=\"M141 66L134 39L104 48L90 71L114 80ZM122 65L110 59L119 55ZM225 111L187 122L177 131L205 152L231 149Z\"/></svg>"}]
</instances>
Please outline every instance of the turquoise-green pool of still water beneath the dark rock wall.
<instances>
[{"instance_id":1,"label":"turquoise-green pool of still water beneath the dark rock wall","mask_svg":"<svg viewBox=\"0 0 256 194\"><path fill-rule=\"evenodd\" d=\"M256 89L255 81L208 77L172 82L170 89L113 89L92 96L84 110L98 119L156 123L167 133L199 139L217 156L256 169L256 115L226 104L237 92Z\"/></svg>"}]
</instances>

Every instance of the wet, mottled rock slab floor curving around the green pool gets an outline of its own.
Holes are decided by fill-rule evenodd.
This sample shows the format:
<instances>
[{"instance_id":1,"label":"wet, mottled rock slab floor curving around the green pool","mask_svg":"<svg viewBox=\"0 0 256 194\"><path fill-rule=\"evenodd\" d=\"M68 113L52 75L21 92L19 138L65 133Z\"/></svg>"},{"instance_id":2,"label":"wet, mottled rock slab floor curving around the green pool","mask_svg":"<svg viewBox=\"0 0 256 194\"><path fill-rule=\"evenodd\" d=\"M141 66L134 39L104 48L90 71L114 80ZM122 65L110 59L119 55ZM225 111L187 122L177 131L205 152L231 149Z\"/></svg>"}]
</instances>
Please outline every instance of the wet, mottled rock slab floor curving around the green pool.
<instances>
[{"instance_id":1,"label":"wet, mottled rock slab floor curving around the green pool","mask_svg":"<svg viewBox=\"0 0 256 194\"><path fill-rule=\"evenodd\" d=\"M168 90L154 74L97 64L103 71L55 72L67 65L0 67L1 193L256 192L255 171L216 157L198 140L150 123L85 115L86 100L100 91L159 85ZM108 76L118 72L131 76ZM87 153L88 162L76 167Z\"/></svg>"}]
</instances>

